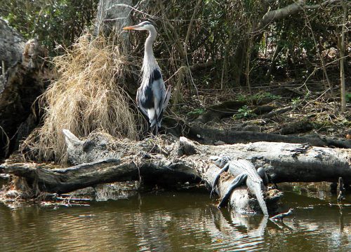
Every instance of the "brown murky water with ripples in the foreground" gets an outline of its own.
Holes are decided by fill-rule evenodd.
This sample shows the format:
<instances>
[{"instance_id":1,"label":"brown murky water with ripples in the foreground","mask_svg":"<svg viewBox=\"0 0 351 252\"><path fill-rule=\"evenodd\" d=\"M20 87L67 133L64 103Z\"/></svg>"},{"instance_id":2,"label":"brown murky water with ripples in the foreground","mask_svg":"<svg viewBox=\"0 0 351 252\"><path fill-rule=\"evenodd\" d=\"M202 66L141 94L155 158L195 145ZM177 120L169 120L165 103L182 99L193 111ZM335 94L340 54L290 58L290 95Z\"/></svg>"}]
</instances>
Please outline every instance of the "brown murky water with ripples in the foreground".
<instances>
[{"instance_id":1,"label":"brown murky water with ripples in the foreground","mask_svg":"<svg viewBox=\"0 0 351 252\"><path fill-rule=\"evenodd\" d=\"M89 207L0 203L0 251L351 251L351 197L284 185L295 221L219 211L206 190L145 193ZM307 188L307 189L306 189Z\"/></svg>"}]
</instances>

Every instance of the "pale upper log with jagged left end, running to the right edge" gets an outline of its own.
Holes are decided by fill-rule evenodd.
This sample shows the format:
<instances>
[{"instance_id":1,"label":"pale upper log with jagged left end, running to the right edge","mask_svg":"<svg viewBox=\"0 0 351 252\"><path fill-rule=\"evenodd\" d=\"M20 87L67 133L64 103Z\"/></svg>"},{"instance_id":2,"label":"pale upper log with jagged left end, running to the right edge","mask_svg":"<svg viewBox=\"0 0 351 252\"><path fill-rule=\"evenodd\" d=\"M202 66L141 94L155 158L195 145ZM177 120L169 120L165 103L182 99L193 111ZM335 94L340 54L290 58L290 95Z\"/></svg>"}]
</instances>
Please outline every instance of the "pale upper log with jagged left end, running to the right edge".
<instances>
[{"instance_id":1,"label":"pale upper log with jagged left end, running to the right edge","mask_svg":"<svg viewBox=\"0 0 351 252\"><path fill-rule=\"evenodd\" d=\"M84 141L67 130L64 134L69 161L75 164L91 162L92 157L93 160L98 160L98 157L120 158L122 155L135 155L143 151L150 155L150 163L159 155L171 163L181 160L185 167L194 169L201 176L206 171L196 168L199 163L208 164L211 155L225 154L233 159L249 160L256 168L263 167L273 183L333 182L338 181L339 177L343 177L345 183L351 182L349 149L272 142L208 146L189 141L185 137L180 137L179 141L174 137L165 137L161 139L161 144L149 139L135 143L127 140L128 144L115 143L114 149L110 147L110 151L107 151L107 143L111 143L111 139L106 134L91 134ZM183 157L179 158L179 155Z\"/></svg>"}]
</instances>

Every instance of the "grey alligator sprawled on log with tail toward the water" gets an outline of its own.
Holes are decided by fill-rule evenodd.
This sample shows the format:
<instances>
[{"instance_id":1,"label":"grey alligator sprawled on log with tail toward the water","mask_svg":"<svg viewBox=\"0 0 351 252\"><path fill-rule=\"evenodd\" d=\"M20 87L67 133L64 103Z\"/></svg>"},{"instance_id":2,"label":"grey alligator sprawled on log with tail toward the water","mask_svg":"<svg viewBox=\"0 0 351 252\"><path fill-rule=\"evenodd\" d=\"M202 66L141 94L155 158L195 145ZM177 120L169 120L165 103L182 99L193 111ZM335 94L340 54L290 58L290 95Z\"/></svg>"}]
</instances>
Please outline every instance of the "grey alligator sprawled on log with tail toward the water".
<instances>
[{"instance_id":1,"label":"grey alligator sprawled on log with tail toward the water","mask_svg":"<svg viewBox=\"0 0 351 252\"><path fill-rule=\"evenodd\" d=\"M211 195L216 189L218 180L220 179L220 174L223 172L230 172L230 174L235 176L235 179L232 181L229 188L227 188L227 192L225 192L220 204L218 204L218 208L226 206L230 199L230 195L232 195L232 191L235 188L246 184L251 193L256 195L258 204L260 205L260 209L263 211L263 214L268 216L267 206L265 204L265 200L263 199L263 193L265 186L267 186L268 178L262 167L256 170L251 162L241 159L231 160L231 158L226 155L221 157L211 157L211 160L215 161L215 164L218 167L223 167L213 181Z\"/></svg>"}]
</instances>

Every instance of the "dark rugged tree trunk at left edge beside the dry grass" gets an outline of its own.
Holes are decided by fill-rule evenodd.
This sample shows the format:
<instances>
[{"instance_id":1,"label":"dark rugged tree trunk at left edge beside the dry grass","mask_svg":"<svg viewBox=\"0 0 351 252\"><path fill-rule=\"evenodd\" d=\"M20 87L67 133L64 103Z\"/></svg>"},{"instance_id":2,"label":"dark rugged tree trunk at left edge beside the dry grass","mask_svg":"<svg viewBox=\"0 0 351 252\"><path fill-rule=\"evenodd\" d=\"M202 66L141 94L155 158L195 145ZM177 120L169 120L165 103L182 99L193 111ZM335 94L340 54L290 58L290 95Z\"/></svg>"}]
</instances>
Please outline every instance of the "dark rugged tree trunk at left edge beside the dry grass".
<instances>
[{"instance_id":1,"label":"dark rugged tree trunk at left edge beside the dry grass","mask_svg":"<svg viewBox=\"0 0 351 252\"><path fill-rule=\"evenodd\" d=\"M18 32L0 19L0 160L37 124L32 104L44 92L41 71L46 50L36 39L25 42ZM40 70L39 70L40 69Z\"/></svg>"}]
</instances>

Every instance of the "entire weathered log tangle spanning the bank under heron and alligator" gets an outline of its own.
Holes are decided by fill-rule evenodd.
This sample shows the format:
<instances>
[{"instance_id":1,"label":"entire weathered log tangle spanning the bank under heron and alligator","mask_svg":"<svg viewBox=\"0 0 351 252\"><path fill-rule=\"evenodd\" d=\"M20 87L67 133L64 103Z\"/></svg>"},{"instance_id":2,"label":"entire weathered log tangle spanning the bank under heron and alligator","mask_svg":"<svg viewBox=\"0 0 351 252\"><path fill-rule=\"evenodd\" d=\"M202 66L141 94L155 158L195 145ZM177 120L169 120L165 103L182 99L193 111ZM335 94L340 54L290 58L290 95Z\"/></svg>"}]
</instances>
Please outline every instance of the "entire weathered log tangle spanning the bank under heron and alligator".
<instances>
[{"instance_id":1,"label":"entire weathered log tangle spanning the bank under heron and alligator","mask_svg":"<svg viewBox=\"0 0 351 252\"><path fill-rule=\"evenodd\" d=\"M80 140L68 130L64 134L69 162L75 166L45 169L32 163L5 163L0 165L0 173L25 178L31 188L37 188L35 193L67 193L99 183L128 180L164 186L202 180L212 188L213 179L220 169L209 158L230 155L232 160L246 159L256 168L263 167L270 174L272 183L338 181L339 177L343 177L345 183L351 181L351 151L347 149L270 142L206 146L172 136L134 142L113 139L101 133ZM220 180L219 195L223 195L232 179L227 174ZM267 206L270 202L277 206L279 195L274 192L267 194ZM232 193L230 206L241 212L258 209L257 202L252 200L245 187ZM268 207L270 212L274 206Z\"/></svg>"}]
</instances>

